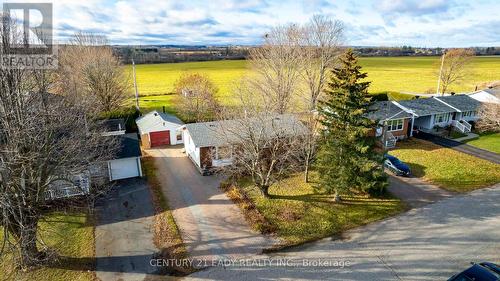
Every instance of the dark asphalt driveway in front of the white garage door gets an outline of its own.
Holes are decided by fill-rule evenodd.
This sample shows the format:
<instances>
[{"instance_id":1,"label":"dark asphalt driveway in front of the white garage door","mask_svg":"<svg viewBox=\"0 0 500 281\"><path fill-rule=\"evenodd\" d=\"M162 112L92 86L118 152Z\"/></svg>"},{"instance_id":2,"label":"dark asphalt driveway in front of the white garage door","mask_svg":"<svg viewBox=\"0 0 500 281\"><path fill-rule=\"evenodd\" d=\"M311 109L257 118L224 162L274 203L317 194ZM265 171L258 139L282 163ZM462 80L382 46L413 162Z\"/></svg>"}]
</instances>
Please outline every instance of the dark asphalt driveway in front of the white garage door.
<instances>
[{"instance_id":1,"label":"dark asphalt driveway in front of the white garage door","mask_svg":"<svg viewBox=\"0 0 500 281\"><path fill-rule=\"evenodd\" d=\"M138 281L152 276L149 274L155 268L150 266L150 260L157 249L152 232L154 210L145 180L120 182L99 200L97 214L97 278Z\"/></svg>"}]
</instances>

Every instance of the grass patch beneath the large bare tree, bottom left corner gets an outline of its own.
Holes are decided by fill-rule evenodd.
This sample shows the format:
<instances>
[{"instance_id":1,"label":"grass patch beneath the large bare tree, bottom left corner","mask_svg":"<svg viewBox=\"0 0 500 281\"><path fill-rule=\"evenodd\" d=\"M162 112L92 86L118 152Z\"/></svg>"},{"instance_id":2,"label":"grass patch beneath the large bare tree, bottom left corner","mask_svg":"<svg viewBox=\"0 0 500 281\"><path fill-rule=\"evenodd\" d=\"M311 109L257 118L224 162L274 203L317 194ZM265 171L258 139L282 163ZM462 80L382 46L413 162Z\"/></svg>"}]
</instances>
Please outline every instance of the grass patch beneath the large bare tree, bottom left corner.
<instances>
[{"instance_id":1,"label":"grass patch beneath the large bare tree, bottom left corner","mask_svg":"<svg viewBox=\"0 0 500 281\"><path fill-rule=\"evenodd\" d=\"M53 212L39 223L40 237L61 256L60 263L22 272L13 267L12 254L0 260L0 280L96 280L93 220L81 212ZM3 229L0 235L3 237ZM71 268L71 269L67 269Z\"/></svg>"}]
</instances>

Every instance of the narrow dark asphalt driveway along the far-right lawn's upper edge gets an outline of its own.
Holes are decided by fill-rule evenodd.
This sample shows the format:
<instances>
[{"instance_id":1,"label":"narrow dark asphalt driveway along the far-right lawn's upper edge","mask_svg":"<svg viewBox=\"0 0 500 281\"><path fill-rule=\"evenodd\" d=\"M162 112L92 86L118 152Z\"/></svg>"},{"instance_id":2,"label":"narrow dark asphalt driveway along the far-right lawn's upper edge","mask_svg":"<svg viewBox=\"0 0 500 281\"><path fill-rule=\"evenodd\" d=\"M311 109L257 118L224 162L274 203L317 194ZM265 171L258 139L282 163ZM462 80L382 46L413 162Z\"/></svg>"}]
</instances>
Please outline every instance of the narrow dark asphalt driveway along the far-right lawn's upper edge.
<instances>
[{"instance_id":1,"label":"narrow dark asphalt driveway along the far-right lawn's upper edge","mask_svg":"<svg viewBox=\"0 0 500 281\"><path fill-rule=\"evenodd\" d=\"M441 145L462 153L470 154L472 156L476 156L478 158L491 161L496 164L500 164L500 154L497 154L495 152L487 151L481 148L474 147L472 145L464 144L458 141L446 139L443 137L435 136L424 132L418 133L416 137L419 139L430 141L437 145Z\"/></svg>"}]
</instances>

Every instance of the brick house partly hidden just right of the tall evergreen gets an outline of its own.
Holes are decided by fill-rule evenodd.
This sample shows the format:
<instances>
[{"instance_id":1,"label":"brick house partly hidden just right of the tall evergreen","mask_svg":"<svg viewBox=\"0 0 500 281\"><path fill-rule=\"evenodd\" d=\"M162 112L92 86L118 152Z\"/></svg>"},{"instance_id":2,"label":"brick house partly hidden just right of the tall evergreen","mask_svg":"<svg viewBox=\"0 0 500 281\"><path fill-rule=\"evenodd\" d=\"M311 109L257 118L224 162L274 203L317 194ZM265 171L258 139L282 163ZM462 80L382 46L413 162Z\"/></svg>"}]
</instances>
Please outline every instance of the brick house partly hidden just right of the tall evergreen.
<instances>
[{"instance_id":1,"label":"brick house partly hidden just right of the tall evergreen","mask_svg":"<svg viewBox=\"0 0 500 281\"><path fill-rule=\"evenodd\" d=\"M410 124L413 114L393 101L375 102L367 114L371 120L378 121L378 126L371 135L376 137L386 148L396 146L396 141L411 136Z\"/></svg>"}]
</instances>

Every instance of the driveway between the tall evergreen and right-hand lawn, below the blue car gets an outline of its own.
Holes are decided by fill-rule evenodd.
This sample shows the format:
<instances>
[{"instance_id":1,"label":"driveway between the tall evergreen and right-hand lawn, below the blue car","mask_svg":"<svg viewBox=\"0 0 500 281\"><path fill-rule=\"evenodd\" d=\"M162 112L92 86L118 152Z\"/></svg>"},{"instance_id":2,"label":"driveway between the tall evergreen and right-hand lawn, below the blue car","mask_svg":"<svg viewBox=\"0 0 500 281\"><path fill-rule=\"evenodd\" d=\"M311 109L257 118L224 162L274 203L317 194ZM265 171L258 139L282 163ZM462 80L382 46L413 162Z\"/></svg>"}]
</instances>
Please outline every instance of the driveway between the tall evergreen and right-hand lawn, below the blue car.
<instances>
[{"instance_id":1,"label":"driveway between the tall evergreen and right-hand lawn, below the blue car","mask_svg":"<svg viewBox=\"0 0 500 281\"><path fill-rule=\"evenodd\" d=\"M422 207L455 195L419 178L398 177L391 175L390 172L389 175L389 192L411 208Z\"/></svg>"}]
</instances>

